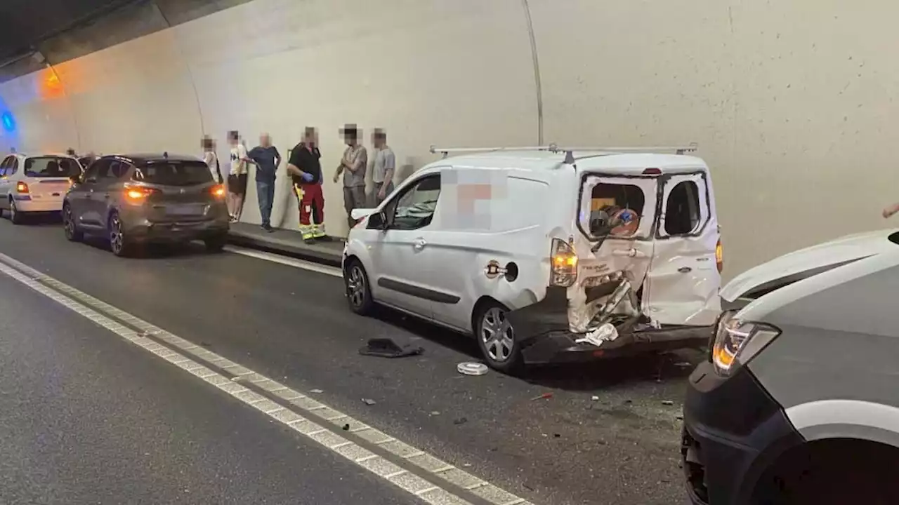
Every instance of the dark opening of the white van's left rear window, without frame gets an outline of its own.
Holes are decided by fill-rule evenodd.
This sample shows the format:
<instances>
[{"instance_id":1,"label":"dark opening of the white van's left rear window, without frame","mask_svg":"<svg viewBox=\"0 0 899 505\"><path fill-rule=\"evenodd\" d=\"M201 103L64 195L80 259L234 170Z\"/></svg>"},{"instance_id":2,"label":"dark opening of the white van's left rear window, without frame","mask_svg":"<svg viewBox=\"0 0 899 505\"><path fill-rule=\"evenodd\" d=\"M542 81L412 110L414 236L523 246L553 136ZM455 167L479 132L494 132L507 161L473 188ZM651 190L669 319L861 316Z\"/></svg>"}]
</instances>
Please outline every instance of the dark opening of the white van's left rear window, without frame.
<instances>
[{"instance_id":1,"label":"dark opening of the white van's left rear window, without frame","mask_svg":"<svg viewBox=\"0 0 899 505\"><path fill-rule=\"evenodd\" d=\"M643 190L634 184L610 184L601 182L593 186L590 201L591 235L611 235L628 237L636 233L640 218L643 217L646 198ZM628 210L632 219L628 224L609 229L608 225Z\"/></svg>"}]
</instances>

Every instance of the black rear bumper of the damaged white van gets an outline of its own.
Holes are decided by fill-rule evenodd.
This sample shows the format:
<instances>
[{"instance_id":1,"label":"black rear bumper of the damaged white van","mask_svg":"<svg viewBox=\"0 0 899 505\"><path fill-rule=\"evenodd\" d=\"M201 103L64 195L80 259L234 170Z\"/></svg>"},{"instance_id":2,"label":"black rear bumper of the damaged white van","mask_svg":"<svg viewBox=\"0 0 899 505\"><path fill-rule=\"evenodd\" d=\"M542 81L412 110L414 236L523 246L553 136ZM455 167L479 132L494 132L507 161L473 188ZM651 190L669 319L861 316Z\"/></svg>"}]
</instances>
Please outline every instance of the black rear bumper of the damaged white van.
<instances>
[{"instance_id":1,"label":"black rear bumper of the damaged white van","mask_svg":"<svg viewBox=\"0 0 899 505\"><path fill-rule=\"evenodd\" d=\"M577 340L583 334L568 330L568 298L565 288L547 288L536 304L506 315L521 343L521 357L528 364L548 364L585 359L631 356L658 350L699 348L708 345L710 326L673 326L622 333L597 347Z\"/></svg>"}]
</instances>

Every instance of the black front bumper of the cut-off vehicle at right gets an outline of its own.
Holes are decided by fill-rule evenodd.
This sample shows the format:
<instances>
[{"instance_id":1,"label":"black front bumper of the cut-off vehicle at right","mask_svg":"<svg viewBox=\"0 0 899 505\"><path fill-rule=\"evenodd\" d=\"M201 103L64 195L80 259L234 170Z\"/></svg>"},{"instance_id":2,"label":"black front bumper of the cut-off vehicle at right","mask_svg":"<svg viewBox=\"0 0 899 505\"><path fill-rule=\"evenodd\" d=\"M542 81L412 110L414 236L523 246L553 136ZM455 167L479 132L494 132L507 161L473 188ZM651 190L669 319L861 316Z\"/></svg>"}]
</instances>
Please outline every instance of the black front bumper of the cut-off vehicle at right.
<instances>
[{"instance_id":1,"label":"black front bumper of the cut-off vehicle at right","mask_svg":"<svg viewBox=\"0 0 899 505\"><path fill-rule=\"evenodd\" d=\"M690 375L681 463L694 505L743 505L768 466L803 443L750 370L719 377L708 361Z\"/></svg>"}]
</instances>

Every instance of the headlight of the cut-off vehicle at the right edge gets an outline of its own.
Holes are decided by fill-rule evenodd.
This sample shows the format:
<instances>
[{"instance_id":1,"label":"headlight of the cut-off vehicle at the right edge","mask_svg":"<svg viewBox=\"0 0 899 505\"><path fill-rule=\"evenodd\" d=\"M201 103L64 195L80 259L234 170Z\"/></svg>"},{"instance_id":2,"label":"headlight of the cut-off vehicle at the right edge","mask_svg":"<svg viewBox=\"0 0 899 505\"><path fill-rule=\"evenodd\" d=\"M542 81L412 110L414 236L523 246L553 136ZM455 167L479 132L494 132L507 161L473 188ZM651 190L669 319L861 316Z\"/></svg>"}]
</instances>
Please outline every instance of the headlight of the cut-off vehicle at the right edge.
<instances>
[{"instance_id":1,"label":"headlight of the cut-off vehicle at the right edge","mask_svg":"<svg viewBox=\"0 0 899 505\"><path fill-rule=\"evenodd\" d=\"M736 312L726 312L718 318L715 341L710 352L715 371L720 376L730 376L737 368L749 363L779 334L779 328L754 321L743 321Z\"/></svg>"}]
</instances>

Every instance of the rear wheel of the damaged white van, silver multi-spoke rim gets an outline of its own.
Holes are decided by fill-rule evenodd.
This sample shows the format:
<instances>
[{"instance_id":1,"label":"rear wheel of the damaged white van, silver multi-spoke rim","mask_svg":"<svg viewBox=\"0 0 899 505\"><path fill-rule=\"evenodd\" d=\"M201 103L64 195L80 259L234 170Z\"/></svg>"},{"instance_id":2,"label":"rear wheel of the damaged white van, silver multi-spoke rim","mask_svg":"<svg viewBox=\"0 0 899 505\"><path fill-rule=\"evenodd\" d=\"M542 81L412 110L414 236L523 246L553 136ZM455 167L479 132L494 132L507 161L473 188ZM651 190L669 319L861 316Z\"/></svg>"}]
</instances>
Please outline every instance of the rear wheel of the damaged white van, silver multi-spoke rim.
<instances>
[{"instance_id":1,"label":"rear wheel of the damaged white van, silver multi-spoke rim","mask_svg":"<svg viewBox=\"0 0 899 505\"><path fill-rule=\"evenodd\" d=\"M487 366L512 374L521 369L521 350L512 323L506 319L508 312L496 302L485 303L475 316L475 337Z\"/></svg>"}]
</instances>

